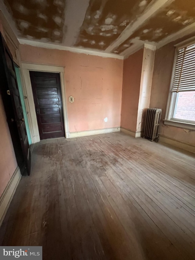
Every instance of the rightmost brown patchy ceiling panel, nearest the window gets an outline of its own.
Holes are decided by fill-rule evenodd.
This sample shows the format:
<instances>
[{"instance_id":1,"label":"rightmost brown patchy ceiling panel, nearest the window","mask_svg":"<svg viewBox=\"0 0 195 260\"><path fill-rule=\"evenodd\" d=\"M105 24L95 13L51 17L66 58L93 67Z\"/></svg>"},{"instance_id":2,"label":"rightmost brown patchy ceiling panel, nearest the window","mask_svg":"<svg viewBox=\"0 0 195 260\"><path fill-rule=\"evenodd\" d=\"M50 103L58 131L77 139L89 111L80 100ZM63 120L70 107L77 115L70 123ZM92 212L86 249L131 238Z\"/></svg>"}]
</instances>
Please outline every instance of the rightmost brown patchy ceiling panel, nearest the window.
<instances>
[{"instance_id":1,"label":"rightmost brown patchy ceiling panel, nearest the window","mask_svg":"<svg viewBox=\"0 0 195 260\"><path fill-rule=\"evenodd\" d=\"M143 23L114 53L121 53L129 47L122 48L132 40L159 42L163 38L173 34L195 22L194 0L175 0L165 8L161 8L155 16Z\"/></svg>"}]
</instances>

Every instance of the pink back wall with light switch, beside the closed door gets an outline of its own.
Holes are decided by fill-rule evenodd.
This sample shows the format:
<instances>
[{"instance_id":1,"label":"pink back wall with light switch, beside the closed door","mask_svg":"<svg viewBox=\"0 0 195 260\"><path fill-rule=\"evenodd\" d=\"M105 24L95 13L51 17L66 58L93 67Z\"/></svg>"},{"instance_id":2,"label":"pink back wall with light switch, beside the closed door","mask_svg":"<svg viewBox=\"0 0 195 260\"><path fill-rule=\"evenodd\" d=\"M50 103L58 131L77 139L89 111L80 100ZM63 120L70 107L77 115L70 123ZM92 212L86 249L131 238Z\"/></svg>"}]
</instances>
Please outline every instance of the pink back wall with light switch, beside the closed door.
<instances>
[{"instance_id":1,"label":"pink back wall with light switch, beside the closed door","mask_svg":"<svg viewBox=\"0 0 195 260\"><path fill-rule=\"evenodd\" d=\"M19 49L22 62L65 67L70 132L120 126L123 60L30 45Z\"/></svg>"}]
</instances>

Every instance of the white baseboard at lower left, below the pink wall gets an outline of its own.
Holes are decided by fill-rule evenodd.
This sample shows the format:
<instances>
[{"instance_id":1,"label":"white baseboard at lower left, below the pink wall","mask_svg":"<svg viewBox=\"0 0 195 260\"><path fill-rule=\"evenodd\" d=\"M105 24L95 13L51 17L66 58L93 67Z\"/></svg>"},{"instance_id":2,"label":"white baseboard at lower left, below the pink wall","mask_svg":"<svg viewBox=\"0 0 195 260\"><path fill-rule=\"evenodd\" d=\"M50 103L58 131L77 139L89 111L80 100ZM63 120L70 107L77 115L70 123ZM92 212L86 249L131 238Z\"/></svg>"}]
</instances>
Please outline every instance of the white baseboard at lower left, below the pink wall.
<instances>
[{"instance_id":1,"label":"white baseboard at lower left, below the pink wall","mask_svg":"<svg viewBox=\"0 0 195 260\"><path fill-rule=\"evenodd\" d=\"M13 195L16 191L16 188L18 186L18 183L21 178L20 169L17 166L15 172L13 173L11 179L9 180L9 183L7 184L3 194L0 197L0 226L3 222L3 219L5 218L5 214L9 208L9 205L12 201Z\"/></svg>"}]
</instances>

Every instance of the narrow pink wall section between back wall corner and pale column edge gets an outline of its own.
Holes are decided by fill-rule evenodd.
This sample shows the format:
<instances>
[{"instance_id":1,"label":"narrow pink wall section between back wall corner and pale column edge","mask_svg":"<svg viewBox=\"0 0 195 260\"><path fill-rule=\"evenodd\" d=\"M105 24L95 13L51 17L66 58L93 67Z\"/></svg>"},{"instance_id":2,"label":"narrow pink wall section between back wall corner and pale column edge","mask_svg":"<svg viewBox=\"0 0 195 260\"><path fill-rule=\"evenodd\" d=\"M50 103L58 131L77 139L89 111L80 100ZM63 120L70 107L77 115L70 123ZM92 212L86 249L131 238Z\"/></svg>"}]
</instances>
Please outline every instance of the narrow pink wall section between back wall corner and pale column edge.
<instances>
[{"instance_id":1,"label":"narrow pink wall section between back wall corner and pale column edge","mask_svg":"<svg viewBox=\"0 0 195 260\"><path fill-rule=\"evenodd\" d=\"M136 132L143 49L124 60L121 127Z\"/></svg>"}]
</instances>

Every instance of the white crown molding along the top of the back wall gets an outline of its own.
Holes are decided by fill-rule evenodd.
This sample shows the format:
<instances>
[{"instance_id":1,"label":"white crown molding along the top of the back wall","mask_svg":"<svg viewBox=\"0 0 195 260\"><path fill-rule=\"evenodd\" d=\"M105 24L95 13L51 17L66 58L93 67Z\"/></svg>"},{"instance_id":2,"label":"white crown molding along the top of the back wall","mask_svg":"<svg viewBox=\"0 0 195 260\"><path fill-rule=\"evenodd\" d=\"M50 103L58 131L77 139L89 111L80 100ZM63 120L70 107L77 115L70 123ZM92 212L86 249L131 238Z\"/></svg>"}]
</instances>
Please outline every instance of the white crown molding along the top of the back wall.
<instances>
[{"instance_id":1,"label":"white crown molding along the top of the back wall","mask_svg":"<svg viewBox=\"0 0 195 260\"><path fill-rule=\"evenodd\" d=\"M98 51L92 51L92 50L75 48L75 47L66 47L66 46L62 46L62 45L44 43L44 42L39 42L39 41L31 41L31 40L26 40L26 39L18 39L18 41L20 44L27 44L27 45L31 45L31 46L35 46L35 47L40 47L40 48L57 49L57 50L63 50L63 51L69 51L69 52L84 53L87 55L95 55L95 56L100 56L103 58L114 58L114 59L123 60L123 56L120 56L118 54L98 52Z\"/></svg>"}]
</instances>

